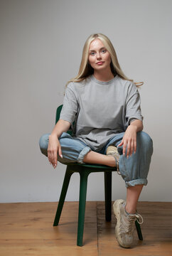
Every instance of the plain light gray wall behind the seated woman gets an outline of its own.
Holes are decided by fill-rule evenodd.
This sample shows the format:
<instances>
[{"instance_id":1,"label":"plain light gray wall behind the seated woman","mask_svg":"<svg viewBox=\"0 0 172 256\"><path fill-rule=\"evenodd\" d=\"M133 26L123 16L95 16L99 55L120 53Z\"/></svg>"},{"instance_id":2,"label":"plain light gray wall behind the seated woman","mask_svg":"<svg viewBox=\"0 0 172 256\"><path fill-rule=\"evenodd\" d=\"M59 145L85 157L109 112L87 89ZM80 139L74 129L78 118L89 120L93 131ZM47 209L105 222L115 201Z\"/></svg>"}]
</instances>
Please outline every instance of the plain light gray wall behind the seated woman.
<instances>
[{"instance_id":1,"label":"plain light gray wall behind the seated woman","mask_svg":"<svg viewBox=\"0 0 172 256\"><path fill-rule=\"evenodd\" d=\"M91 33L104 33L124 73L141 87L144 131L154 140L141 201L171 201L171 1L4 0L0 6L0 201L58 201L65 166L53 169L39 137L51 132L65 82L77 74ZM96 186L95 186L96 184ZM91 174L87 200L104 200L102 174ZM113 174L113 200L125 198ZM66 200L77 201L79 176Z\"/></svg>"}]
</instances>

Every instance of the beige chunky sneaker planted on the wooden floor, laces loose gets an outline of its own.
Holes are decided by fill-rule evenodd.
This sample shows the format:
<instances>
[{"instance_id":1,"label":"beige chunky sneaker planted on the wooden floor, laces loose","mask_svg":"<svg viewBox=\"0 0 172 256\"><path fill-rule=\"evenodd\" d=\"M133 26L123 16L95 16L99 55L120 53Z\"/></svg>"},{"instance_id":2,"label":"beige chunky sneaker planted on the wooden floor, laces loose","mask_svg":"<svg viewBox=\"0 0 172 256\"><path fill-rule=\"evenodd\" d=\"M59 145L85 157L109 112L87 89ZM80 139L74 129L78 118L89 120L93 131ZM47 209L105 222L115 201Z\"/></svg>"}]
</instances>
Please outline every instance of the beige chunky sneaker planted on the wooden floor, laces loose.
<instances>
[{"instance_id":1,"label":"beige chunky sneaker planted on the wooden floor, laces loose","mask_svg":"<svg viewBox=\"0 0 172 256\"><path fill-rule=\"evenodd\" d=\"M133 233L135 227L135 220L138 221L139 224L142 224L143 218L138 213L129 214L125 210L125 201L119 199L114 202L113 210L114 215L117 218L117 225L115 227L115 235L119 245L124 248L129 248L133 242ZM139 222L139 218L141 218L141 223Z\"/></svg>"}]
</instances>

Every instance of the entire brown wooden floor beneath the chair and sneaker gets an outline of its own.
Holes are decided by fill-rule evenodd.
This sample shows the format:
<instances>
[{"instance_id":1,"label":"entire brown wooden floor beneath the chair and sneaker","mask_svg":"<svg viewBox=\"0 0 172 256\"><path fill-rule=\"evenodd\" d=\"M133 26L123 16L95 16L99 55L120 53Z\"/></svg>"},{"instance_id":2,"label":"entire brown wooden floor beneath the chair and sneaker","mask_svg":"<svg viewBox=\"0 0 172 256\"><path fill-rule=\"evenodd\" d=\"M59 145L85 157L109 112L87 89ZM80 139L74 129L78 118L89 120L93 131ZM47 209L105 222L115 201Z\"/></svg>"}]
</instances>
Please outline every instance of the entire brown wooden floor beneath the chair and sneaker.
<instances>
[{"instance_id":1,"label":"entire brown wooden floor beneath the chair and sneaker","mask_svg":"<svg viewBox=\"0 0 172 256\"><path fill-rule=\"evenodd\" d=\"M104 220L104 202L87 202L84 246L78 247L77 202L65 202L53 227L57 203L0 203L0 256L171 256L171 203L140 202L144 241L134 233L131 249L119 247L116 219Z\"/></svg>"}]
</instances>

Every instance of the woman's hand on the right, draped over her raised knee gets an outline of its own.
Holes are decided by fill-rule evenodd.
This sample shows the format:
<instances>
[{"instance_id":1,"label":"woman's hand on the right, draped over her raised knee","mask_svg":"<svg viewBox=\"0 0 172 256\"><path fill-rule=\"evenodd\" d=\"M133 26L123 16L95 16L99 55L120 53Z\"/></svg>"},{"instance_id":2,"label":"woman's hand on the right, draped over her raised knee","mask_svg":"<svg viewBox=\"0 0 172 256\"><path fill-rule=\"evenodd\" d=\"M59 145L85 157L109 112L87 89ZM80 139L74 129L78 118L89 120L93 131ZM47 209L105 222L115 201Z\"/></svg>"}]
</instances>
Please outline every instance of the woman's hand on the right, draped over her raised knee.
<instances>
[{"instance_id":1,"label":"woman's hand on the right, draped over her raised knee","mask_svg":"<svg viewBox=\"0 0 172 256\"><path fill-rule=\"evenodd\" d=\"M134 125L129 125L125 131L122 142L118 145L123 145L123 155L126 154L127 149L127 159L129 158L129 155L132 155L133 151L134 154L136 153L136 131L137 128Z\"/></svg>"}]
</instances>

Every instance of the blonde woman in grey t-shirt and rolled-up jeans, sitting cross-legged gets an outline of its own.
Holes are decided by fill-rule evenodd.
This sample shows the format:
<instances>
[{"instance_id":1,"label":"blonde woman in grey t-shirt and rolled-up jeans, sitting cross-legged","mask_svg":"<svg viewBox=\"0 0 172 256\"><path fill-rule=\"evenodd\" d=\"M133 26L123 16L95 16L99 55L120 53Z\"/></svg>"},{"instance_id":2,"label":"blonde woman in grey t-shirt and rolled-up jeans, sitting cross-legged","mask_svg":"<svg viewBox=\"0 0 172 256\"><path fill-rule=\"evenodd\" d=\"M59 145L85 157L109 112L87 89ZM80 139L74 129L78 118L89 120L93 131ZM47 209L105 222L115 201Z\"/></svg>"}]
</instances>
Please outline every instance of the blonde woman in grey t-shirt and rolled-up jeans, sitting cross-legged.
<instances>
[{"instance_id":1,"label":"blonde woman in grey t-shirt and rolled-up jeans, sitting cross-legged","mask_svg":"<svg viewBox=\"0 0 172 256\"><path fill-rule=\"evenodd\" d=\"M66 87L60 119L51 134L41 137L40 146L54 168L58 161L117 167L127 186L127 200L113 205L122 247L131 247L134 222L141 217L136 203L147 184L153 152L142 120L136 84L122 72L109 38L92 34L79 73ZM70 127L72 137L66 133Z\"/></svg>"}]
</instances>

